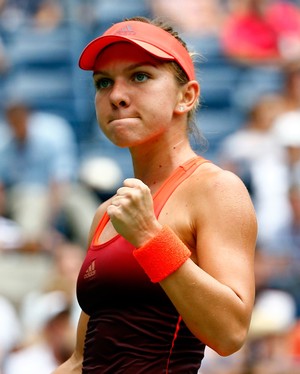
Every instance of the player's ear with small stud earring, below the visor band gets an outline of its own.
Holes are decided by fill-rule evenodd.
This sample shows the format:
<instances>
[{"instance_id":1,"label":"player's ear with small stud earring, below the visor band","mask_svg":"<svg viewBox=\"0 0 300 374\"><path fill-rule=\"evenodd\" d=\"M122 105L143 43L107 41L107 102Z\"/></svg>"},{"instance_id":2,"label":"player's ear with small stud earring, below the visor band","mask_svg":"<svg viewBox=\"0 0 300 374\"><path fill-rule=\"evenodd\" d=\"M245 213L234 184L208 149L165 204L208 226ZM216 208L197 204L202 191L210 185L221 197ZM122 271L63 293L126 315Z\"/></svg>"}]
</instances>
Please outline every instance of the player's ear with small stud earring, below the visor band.
<instances>
[{"instance_id":1,"label":"player's ear with small stud earring, below the visor band","mask_svg":"<svg viewBox=\"0 0 300 374\"><path fill-rule=\"evenodd\" d=\"M190 112L197 103L200 95L200 85L197 81L189 81L184 85L179 94L179 100L175 107L175 114Z\"/></svg>"}]
</instances>

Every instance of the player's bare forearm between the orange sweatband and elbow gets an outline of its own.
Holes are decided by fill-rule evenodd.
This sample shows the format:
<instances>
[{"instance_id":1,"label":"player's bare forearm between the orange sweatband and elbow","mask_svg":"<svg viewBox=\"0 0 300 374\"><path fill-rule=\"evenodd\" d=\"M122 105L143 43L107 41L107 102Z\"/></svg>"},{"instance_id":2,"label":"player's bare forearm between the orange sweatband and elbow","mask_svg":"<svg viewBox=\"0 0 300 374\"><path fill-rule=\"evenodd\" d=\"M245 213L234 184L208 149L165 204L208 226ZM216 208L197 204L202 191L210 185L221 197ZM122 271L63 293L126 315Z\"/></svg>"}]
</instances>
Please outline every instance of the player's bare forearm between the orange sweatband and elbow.
<instances>
[{"instance_id":1,"label":"player's bare forearm between the orange sweatband and elbow","mask_svg":"<svg viewBox=\"0 0 300 374\"><path fill-rule=\"evenodd\" d=\"M247 336L252 301L247 305L234 290L190 259L160 285L201 341L224 356L241 348Z\"/></svg>"}]
</instances>

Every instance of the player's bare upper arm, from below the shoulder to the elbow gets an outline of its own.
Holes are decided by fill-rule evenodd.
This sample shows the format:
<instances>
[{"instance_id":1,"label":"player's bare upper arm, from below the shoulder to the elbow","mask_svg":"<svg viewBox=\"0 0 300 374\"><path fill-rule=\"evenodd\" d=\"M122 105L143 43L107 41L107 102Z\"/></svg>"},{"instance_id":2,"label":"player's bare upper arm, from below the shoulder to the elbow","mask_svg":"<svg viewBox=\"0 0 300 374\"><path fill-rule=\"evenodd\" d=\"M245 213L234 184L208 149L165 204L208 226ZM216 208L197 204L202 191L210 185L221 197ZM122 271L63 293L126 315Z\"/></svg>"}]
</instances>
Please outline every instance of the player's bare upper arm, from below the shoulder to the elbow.
<instances>
[{"instance_id":1,"label":"player's bare upper arm, from below the shoulder to the elbow","mask_svg":"<svg viewBox=\"0 0 300 374\"><path fill-rule=\"evenodd\" d=\"M257 223L250 196L227 171L213 175L205 188L196 228L199 266L251 306Z\"/></svg>"}]
</instances>

